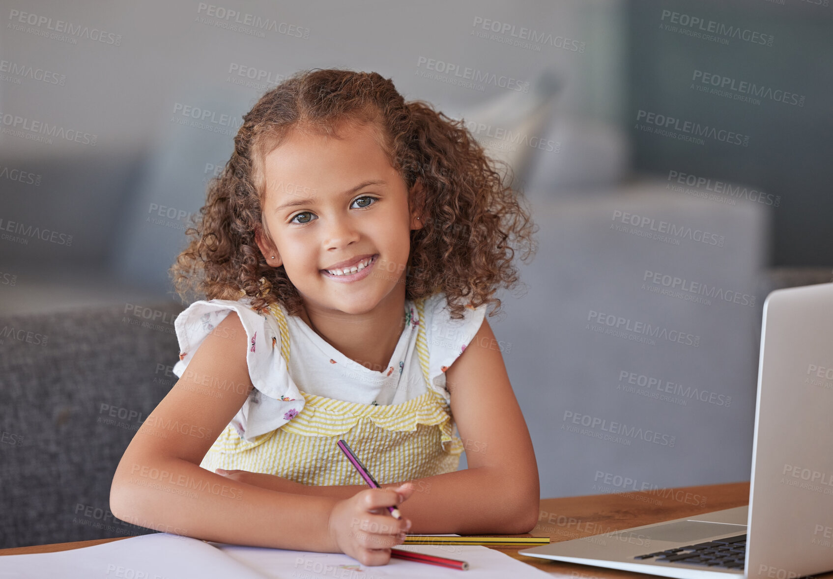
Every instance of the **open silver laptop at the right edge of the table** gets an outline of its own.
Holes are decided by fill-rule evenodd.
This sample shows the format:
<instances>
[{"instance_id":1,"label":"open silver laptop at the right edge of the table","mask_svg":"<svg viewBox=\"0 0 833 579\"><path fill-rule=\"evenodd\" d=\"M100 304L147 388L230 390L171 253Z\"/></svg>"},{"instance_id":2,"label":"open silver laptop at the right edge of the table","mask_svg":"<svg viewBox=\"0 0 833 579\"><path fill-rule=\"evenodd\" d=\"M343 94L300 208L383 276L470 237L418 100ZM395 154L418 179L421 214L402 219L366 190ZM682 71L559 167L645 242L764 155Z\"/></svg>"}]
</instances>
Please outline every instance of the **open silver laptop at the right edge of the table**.
<instances>
[{"instance_id":1,"label":"open silver laptop at the right edge of the table","mask_svg":"<svg viewBox=\"0 0 833 579\"><path fill-rule=\"evenodd\" d=\"M773 291L762 326L748 507L521 555L681 579L833 570L833 283Z\"/></svg>"}]
</instances>

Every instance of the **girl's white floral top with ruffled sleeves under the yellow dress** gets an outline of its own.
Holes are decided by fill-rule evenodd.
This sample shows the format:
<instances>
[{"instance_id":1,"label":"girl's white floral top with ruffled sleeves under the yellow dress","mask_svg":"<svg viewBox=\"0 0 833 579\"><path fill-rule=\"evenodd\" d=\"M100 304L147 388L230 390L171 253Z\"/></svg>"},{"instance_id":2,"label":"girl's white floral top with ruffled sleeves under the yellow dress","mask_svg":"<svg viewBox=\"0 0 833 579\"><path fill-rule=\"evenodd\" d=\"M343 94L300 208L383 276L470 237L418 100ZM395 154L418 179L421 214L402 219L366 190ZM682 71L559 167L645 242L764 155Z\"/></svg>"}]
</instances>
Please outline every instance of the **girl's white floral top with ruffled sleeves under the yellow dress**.
<instances>
[{"instance_id":1,"label":"girl's white floral top with ruffled sleeves under the yellow dress","mask_svg":"<svg viewBox=\"0 0 833 579\"><path fill-rule=\"evenodd\" d=\"M257 314L249 304L248 297L237 301L210 299L196 301L184 309L174 322L180 359L173 367L173 373L181 378L202 340L230 311L237 312L246 330L246 362L256 389L231 424L248 441L280 428L301 412L306 403L301 390L345 402L380 405L403 403L426 393L427 385L416 354L421 321L426 332L431 387L450 401L445 369L466 349L486 315L486 304L483 304L479 308L464 309L463 319L451 319L446 295L434 294L425 299L426 319L420 320L412 300L406 299L406 327L390 363L379 372L347 358L303 319L287 314L278 304L287 319L290 343L287 368L281 355L277 318L273 314Z\"/></svg>"}]
</instances>

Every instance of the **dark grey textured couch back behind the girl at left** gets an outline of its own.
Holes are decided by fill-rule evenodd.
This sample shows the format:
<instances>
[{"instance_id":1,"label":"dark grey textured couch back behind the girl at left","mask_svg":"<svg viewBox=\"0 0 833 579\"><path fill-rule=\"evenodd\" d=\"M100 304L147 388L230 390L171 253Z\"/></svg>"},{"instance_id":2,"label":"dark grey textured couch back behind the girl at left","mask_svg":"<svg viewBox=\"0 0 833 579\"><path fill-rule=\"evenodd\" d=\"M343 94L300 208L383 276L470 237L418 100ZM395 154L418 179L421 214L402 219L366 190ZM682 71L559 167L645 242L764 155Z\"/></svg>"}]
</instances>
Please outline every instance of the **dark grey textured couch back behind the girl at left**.
<instances>
[{"instance_id":1,"label":"dark grey textured couch back behind the girl at left","mask_svg":"<svg viewBox=\"0 0 833 579\"><path fill-rule=\"evenodd\" d=\"M127 444L176 382L182 305L0 319L0 547L151 532L110 512Z\"/></svg>"}]
</instances>

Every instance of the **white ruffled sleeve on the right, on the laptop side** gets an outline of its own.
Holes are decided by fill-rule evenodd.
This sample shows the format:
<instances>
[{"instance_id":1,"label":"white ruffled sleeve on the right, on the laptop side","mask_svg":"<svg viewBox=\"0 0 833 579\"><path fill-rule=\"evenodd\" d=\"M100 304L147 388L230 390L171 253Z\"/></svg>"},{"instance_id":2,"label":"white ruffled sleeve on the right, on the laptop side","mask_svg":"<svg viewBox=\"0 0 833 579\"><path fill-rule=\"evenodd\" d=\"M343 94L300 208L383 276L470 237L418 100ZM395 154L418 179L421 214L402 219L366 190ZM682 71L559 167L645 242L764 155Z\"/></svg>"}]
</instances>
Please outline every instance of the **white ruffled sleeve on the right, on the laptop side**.
<instances>
[{"instance_id":1,"label":"white ruffled sleeve on the right, on the laptop side","mask_svg":"<svg viewBox=\"0 0 833 579\"><path fill-rule=\"evenodd\" d=\"M463 353L486 318L488 304L466 307L462 319L451 319L446 294L434 294L425 300L426 341L428 345L428 378L431 385L451 401L446 388L446 370Z\"/></svg>"}]
</instances>

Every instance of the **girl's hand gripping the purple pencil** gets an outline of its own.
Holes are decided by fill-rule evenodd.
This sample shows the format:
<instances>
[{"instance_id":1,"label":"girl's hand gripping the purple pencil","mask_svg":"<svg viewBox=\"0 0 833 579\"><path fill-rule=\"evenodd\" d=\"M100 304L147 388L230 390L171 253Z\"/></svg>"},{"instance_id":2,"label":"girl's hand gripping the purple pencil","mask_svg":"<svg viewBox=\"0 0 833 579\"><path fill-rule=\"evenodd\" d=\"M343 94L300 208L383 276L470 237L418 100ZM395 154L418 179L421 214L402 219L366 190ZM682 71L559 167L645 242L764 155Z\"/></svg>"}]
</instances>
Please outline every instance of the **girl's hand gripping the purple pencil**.
<instances>
[{"instance_id":1,"label":"girl's hand gripping the purple pencil","mask_svg":"<svg viewBox=\"0 0 833 579\"><path fill-rule=\"evenodd\" d=\"M327 525L332 542L362 565L387 565L391 547L405 542L405 532L411 528L411 521L392 517L387 507L402 504L413 492L414 486L404 483L367 488L337 502Z\"/></svg>"}]
</instances>

